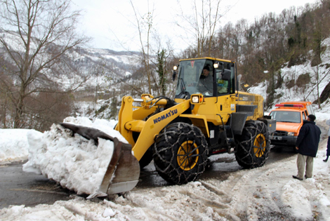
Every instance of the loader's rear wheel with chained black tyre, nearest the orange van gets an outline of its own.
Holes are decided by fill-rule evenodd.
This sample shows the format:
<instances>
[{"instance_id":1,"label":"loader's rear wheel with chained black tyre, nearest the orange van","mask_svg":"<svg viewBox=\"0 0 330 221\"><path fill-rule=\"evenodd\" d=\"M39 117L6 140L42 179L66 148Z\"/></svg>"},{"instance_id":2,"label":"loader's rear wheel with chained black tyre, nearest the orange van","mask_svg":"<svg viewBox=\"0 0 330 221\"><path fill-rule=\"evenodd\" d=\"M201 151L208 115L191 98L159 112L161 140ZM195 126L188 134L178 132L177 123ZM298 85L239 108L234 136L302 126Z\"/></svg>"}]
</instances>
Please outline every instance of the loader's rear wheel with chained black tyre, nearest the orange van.
<instances>
[{"instance_id":1,"label":"loader's rear wheel with chained black tyre, nearest the orange van","mask_svg":"<svg viewBox=\"0 0 330 221\"><path fill-rule=\"evenodd\" d=\"M244 168L263 166L270 152L270 135L265 123L249 121L245 124L242 135L235 137L237 163Z\"/></svg>"}]
</instances>

